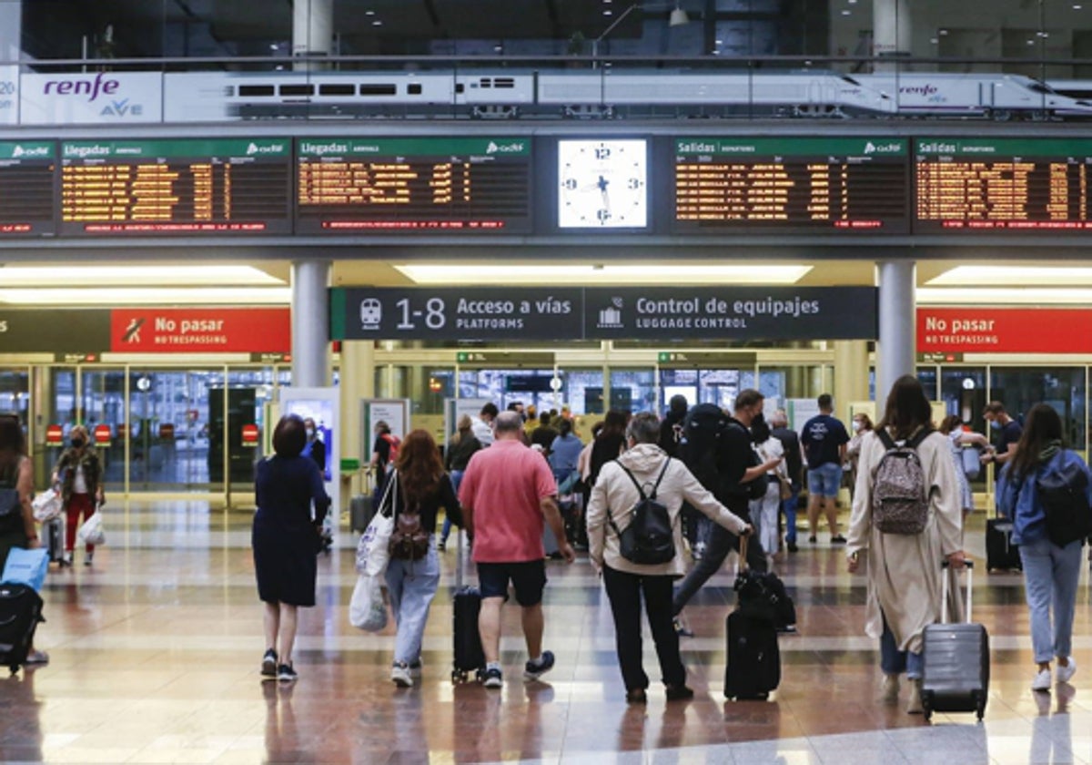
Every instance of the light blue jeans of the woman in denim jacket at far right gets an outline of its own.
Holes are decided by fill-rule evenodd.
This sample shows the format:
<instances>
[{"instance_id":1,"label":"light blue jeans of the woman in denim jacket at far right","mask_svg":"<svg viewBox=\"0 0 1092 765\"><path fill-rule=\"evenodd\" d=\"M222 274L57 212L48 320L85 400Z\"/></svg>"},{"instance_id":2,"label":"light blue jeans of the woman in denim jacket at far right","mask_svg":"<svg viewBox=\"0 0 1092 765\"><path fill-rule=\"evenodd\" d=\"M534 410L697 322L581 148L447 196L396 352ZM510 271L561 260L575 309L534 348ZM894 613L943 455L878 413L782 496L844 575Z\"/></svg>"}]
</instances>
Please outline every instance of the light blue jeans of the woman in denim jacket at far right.
<instances>
[{"instance_id":1,"label":"light blue jeans of the woman in denim jacket at far right","mask_svg":"<svg viewBox=\"0 0 1092 765\"><path fill-rule=\"evenodd\" d=\"M1035 661L1043 663L1072 651L1073 610L1081 578L1081 543L1064 548L1049 539L1020 544L1024 591L1031 611L1031 644ZM1051 627L1051 616L1054 627Z\"/></svg>"}]
</instances>

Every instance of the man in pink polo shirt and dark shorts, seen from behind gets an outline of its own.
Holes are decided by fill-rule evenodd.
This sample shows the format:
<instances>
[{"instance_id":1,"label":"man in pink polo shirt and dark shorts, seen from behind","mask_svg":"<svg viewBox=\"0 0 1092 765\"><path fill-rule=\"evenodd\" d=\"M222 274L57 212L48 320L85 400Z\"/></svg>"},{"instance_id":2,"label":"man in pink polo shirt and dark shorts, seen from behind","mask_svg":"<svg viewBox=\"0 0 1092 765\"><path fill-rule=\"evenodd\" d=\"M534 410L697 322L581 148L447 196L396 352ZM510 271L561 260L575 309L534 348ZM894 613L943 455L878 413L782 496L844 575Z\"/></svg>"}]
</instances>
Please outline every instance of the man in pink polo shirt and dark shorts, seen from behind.
<instances>
[{"instance_id":1,"label":"man in pink polo shirt and dark shorts, seen from behind","mask_svg":"<svg viewBox=\"0 0 1092 765\"><path fill-rule=\"evenodd\" d=\"M565 538L558 511L557 482L543 456L523 445L523 421L518 412L501 412L494 420L496 440L476 451L463 473L459 504L466 530L474 534L474 563L482 590L478 633L486 666L478 670L483 685L503 685L500 671L500 609L508 599L508 584L523 608L523 637L529 660L523 679L538 680L554 667L554 654L542 649L543 588L546 586L544 523L558 539L558 550L569 563L575 558Z\"/></svg>"}]
</instances>

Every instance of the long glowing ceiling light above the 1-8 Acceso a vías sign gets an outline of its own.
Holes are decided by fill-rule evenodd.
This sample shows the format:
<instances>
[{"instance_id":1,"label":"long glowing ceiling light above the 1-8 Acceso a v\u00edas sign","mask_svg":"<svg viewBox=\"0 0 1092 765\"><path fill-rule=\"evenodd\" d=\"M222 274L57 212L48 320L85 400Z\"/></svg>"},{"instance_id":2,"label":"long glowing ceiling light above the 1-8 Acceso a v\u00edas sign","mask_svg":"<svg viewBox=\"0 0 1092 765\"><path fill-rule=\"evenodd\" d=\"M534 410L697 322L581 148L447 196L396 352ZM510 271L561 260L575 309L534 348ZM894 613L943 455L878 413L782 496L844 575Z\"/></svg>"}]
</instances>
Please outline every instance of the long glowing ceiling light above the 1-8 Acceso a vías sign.
<instances>
[{"instance_id":1,"label":"long glowing ceiling light above the 1-8 Acceso a v\u00edas sign","mask_svg":"<svg viewBox=\"0 0 1092 765\"><path fill-rule=\"evenodd\" d=\"M795 284L810 266L642 266L629 263L506 266L407 263L397 271L417 284Z\"/></svg>"}]
</instances>

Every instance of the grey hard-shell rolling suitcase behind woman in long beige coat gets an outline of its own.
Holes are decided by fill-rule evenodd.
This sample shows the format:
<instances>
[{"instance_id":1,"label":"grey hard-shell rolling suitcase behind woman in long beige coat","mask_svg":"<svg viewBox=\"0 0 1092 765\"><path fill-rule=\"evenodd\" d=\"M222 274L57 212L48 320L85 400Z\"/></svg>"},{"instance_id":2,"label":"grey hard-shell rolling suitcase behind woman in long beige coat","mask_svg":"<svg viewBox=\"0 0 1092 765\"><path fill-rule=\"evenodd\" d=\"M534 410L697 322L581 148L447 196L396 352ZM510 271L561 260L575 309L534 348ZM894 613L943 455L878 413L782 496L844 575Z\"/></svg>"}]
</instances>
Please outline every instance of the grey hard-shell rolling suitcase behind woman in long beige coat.
<instances>
[{"instance_id":1,"label":"grey hard-shell rolling suitcase behind woman in long beige coat","mask_svg":"<svg viewBox=\"0 0 1092 765\"><path fill-rule=\"evenodd\" d=\"M947 566L947 563L945 564ZM922 709L925 719L934 711L973 711L981 720L989 694L989 634L971 622L971 570L966 564L966 621L949 624L948 587L951 572L943 572L942 624L925 627L922 672Z\"/></svg>"}]
</instances>

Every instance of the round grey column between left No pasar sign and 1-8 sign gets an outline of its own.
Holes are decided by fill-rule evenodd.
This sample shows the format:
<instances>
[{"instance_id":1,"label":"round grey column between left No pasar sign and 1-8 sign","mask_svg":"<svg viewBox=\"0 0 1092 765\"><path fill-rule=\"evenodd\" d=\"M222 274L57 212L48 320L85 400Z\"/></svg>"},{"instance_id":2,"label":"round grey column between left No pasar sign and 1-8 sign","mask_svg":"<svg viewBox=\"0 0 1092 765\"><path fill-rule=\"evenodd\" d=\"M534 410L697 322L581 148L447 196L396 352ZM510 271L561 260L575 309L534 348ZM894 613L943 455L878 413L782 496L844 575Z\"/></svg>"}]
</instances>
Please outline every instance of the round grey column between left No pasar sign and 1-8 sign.
<instances>
[{"instance_id":1,"label":"round grey column between left No pasar sign and 1-8 sign","mask_svg":"<svg viewBox=\"0 0 1092 765\"><path fill-rule=\"evenodd\" d=\"M329 260L292 264L292 385L330 385Z\"/></svg>"}]
</instances>

